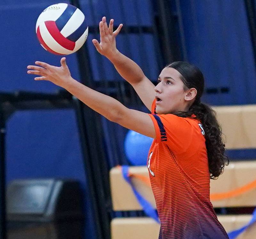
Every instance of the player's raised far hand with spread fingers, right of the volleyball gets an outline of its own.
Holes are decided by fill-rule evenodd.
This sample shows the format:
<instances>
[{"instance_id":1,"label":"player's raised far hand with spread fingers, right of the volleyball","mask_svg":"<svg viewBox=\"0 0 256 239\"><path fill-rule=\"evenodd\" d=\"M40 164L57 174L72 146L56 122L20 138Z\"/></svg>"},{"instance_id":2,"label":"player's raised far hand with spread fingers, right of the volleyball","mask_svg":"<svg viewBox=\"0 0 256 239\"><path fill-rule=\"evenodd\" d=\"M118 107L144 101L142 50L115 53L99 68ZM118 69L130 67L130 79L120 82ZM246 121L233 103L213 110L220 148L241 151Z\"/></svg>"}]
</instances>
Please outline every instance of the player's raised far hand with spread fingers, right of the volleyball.
<instances>
[{"instance_id":1,"label":"player's raised far hand with spread fingers, right of the volleyball","mask_svg":"<svg viewBox=\"0 0 256 239\"><path fill-rule=\"evenodd\" d=\"M109 26L106 22L106 17L102 18L100 21L100 43L93 39L92 43L96 47L97 51L100 52L101 55L110 59L113 57L117 51L116 49L116 36L120 32L123 24L120 24L116 31L113 32L114 19L110 19Z\"/></svg>"}]
</instances>

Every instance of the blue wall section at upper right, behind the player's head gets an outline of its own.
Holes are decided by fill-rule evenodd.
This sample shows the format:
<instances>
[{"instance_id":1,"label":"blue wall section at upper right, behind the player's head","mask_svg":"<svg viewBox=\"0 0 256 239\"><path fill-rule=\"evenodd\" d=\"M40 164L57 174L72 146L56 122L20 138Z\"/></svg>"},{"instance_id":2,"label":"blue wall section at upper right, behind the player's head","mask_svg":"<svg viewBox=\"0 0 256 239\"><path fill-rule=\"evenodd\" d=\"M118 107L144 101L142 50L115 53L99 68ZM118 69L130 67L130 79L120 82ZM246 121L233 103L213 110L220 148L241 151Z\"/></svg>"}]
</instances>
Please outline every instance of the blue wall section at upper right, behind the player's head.
<instances>
[{"instance_id":1,"label":"blue wall section at upper right, behind the player's head","mask_svg":"<svg viewBox=\"0 0 256 239\"><path fill-rule=\"evenodd\" d=\"M206 88L229 93L204 96L207 103L253 104L256 72L243 1L184 1L181 12L188 61L204 73Z\"/></svg>"}]
</instances>

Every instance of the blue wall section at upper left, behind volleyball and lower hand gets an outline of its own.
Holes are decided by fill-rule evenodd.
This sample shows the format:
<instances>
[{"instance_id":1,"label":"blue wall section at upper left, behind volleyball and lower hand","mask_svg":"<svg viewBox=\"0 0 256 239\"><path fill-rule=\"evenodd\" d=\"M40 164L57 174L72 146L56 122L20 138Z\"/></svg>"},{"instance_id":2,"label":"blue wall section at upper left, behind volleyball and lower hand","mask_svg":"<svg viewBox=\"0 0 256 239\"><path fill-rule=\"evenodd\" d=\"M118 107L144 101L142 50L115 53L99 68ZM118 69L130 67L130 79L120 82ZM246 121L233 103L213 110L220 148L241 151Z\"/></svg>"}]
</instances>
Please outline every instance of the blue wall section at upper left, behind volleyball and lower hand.
<instances>
[{"instance_id":1,"label":"blue wall section at upper left, behind volleyball and lower hand","mask_svg":"<svg viewBox=\"0 0 256 239\"><path fill-rule=\"evenodd\" d=\"M65 1L63 1L65 2ZM67 2L67 1L66 1ZM34 81L27 74L27 66L36 60L60 66L60 56L44 50L36 37L36 20L39 14L54 1L38 4L35 1L0 2L1 32L1 86L0 90L29 90L55 92L60 89L47 81ZM13 17L15 16L15 17ZM76 54L67 56L68 66L74 78L79 79Z\"/></svg>"}]
</instances>

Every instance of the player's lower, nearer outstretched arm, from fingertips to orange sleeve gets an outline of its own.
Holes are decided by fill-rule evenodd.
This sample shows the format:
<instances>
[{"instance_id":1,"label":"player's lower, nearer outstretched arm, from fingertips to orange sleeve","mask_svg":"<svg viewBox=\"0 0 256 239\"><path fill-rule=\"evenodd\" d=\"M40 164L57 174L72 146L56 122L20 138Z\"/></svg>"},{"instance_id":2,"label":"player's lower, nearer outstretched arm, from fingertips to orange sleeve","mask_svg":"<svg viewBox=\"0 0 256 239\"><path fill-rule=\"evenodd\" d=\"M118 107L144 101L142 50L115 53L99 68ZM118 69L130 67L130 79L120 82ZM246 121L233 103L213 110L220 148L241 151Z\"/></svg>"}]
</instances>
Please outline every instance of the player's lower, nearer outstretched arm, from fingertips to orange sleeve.
<instances>
[{"instance_id":1,"label":"player's lower, nearer outstretched arm, from fingertips to orange sleeve","mask_svg":"<svg viewBox=\"0 0 256 239\"><path fill-rule=\"evenodd\" d=\"M36 61L37 66L28 66L28 74L40 75L35 77L35 80L47 80L63 87L107 119L140 134L156 138L154 124L147 113L128 109L116 99L74 80L66 64L66 58L61 58L60 63L61 66L57 67Z\"/></svg>"}]
</instances>

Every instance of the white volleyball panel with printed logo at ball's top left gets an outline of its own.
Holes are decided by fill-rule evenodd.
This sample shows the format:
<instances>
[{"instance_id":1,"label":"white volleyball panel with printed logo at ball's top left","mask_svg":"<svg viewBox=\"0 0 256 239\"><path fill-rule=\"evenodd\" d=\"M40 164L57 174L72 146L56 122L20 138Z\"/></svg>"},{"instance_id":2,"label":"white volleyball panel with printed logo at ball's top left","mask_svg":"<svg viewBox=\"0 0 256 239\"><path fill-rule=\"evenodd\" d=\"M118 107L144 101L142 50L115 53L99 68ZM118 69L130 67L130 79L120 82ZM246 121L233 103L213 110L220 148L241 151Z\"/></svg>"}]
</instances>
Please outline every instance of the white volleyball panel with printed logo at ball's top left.
<instances>
[{"instance_id":1,"label":"white volleyball panel with printed logo at ball's top left","mask_svg":"<svg viewBox=\"0 0 256 239\"><path fill-rule=\"evenodd\" d=\"M44 9L36 21L36 29L44 21L56 21L67 7L66 3L58 3Z\"/></svg>"}]
</instances>

